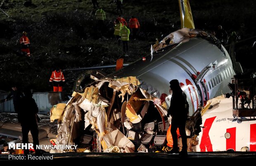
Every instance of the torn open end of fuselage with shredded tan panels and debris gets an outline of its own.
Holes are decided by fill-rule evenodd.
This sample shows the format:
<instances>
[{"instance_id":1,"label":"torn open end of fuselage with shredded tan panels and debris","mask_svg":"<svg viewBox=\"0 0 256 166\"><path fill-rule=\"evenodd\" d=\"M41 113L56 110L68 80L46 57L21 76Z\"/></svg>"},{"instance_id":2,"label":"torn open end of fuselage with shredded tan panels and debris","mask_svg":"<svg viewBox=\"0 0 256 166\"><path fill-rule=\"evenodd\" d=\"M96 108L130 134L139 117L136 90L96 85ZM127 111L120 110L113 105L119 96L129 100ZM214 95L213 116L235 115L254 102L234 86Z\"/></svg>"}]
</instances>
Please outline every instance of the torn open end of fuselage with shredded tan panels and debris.
<instances>
[{"instance_id":1,"label":"torn open end of fuselage with shredded tan panels and debris","mask_svg":"<svg viewBox=\"0 0 256 166\"><path fill-rule=\"evenodd\" d=\"M91 149L93 152L109 152L109 148L134 152L140 146L140 134L155 134L157 122L158 130L166 131L166 100L170 96L156 98L139 85L136 77L104 78L86 87L83 93L74 92L65 108L60 103L51 110L51 121L59 119L57 144L75 143L90 126L96 131L97 147ZM153 123L147 131L142 129L150 122Z\"/></svg>"}]
</instances>

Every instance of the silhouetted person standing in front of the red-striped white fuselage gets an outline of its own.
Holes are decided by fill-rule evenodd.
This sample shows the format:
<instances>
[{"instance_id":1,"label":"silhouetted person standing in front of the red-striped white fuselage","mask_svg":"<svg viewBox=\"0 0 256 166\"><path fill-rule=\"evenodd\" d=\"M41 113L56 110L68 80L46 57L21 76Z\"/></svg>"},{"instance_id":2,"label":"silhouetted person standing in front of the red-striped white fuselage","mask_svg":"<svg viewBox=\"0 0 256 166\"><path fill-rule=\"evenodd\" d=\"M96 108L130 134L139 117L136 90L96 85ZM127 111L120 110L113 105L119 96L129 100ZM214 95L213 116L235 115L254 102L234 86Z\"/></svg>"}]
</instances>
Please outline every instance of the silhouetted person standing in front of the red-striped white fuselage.
<instances>
[{"instance_id":1,"label":"silhouetted person standing in front of the red-striped white fuselage","mask_svg":"<svg viewBox=\"0 0 256 166\"><path fill-rule=\"evenodd\" d=\"M187 96L180 88L180 83L177 79L170 81L170 88L172 90L172 97L170 108L168 110L167 116L171 115L171 135L173 137L173 149L170 153L178 153L178 137L177 129L180 130L180 135L182 138L182 150L181 154L183 156L187 155L187 135L185 131L186 120L188 116L188 102Z\"/></svg>"}]
</instances>

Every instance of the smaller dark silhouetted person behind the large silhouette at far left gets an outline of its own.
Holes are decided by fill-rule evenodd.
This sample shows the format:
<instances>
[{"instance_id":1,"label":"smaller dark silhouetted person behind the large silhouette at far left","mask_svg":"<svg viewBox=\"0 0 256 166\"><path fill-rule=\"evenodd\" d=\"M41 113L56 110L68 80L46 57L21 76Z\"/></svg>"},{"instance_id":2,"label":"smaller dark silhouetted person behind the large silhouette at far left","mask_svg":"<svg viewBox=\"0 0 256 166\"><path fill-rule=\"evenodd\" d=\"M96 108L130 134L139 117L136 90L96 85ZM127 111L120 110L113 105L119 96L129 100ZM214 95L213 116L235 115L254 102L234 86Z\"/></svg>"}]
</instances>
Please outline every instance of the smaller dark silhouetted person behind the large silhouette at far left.
<instances>
[{"instance_id":1,"label":"smaller dark silhouetted person behind the large silhouette at far left","mask_svg":"<svg viewBox=\"0 0 256 166\"><path fill-rule=\"evenodd\" d=\"M14 110L15 110L16 113L18 113L20 111L21 98L23 98L24 95L17 88L16 85L12 86L12 91L5 98L5 101L7 101L11 97L12 97L12 101L13 101L13 105L14 105Z\"/></svg>"}]
</instances>

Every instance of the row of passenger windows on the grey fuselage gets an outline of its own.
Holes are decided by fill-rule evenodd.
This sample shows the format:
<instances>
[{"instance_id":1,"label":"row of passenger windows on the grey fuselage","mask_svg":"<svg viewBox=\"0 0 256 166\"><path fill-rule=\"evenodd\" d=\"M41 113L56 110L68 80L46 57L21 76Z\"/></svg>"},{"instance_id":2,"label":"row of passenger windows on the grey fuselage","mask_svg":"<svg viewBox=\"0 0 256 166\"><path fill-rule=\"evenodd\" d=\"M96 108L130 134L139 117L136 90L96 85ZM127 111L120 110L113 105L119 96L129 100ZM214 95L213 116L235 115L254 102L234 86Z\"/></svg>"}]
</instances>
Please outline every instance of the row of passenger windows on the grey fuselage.
<instances>
[{"instance_id":1,"label":"row of passenger windows on the grey fuselage","mask_svg":"<svg viewBox=\"0 0 256 166\"><path fill-rule=\"evenodd\" d=\"M231 77L231 75L233 75L231 66L230 66L230 68L225 68L225 70L223 72L219 72L215 77L213 77L212 79L210 79L208 81L209 88L212 89L212 88L216 87L220 82L223 82L224 79ZM210 84L210 82L211 82L211 84ZM207 84L205 86L206 86L207 91L209 91Z\"/></svg>"}]
</instances>

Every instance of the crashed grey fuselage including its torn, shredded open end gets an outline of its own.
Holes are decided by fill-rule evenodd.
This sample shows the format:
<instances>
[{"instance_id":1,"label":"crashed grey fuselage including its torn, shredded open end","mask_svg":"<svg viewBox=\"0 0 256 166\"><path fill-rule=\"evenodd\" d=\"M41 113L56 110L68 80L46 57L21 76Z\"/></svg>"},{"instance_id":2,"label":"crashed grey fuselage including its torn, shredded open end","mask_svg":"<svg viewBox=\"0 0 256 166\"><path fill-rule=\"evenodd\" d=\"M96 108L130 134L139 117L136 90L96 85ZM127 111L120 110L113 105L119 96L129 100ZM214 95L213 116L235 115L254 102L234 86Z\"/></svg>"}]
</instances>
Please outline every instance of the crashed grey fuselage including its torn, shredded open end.
<instances>
[{"instance_id":1,"label":"crashed grey fuselage including its torn, shredded open end","mask_svg":"<svg viewBox=\"0 0 256 166\"><path fill-rule=\"evenodd\" d=\"M190 116L209 99L230 92L227 84L235 74L230 56L215 37L204 31L175 31L145 58L95 81L81 93L74 92L57 116L55 106L51 120L59 119L57 144L75 143L90 125L97 138L94 152L139 151L141 144L153 140L160 146L168 129L165 121L172 79L179 80L187 95ZM158 129L147 132L150 129L145 126L150 122ZM155 138L142 140L145 133Z\"/></svg>"}]
</instances>

